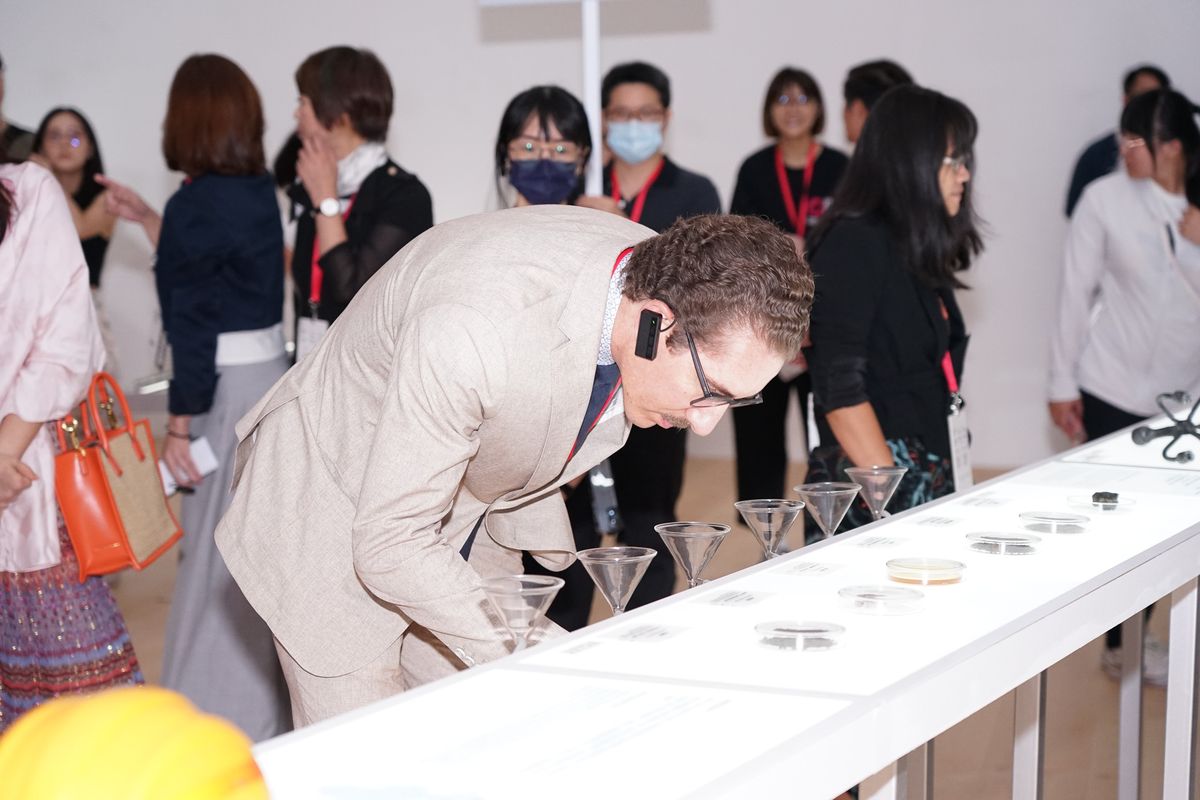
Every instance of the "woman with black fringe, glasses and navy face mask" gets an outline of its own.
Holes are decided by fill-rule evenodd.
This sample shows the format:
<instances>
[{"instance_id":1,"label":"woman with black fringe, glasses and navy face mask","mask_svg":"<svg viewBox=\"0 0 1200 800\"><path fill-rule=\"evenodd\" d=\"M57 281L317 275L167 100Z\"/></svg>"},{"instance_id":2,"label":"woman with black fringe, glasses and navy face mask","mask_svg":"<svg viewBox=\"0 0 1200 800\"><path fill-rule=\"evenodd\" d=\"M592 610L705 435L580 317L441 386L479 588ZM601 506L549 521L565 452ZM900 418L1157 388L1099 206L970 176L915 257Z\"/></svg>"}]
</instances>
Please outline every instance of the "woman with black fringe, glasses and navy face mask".
<instances>
[{"instance_id":1,"label":"woman with black fringe, glasses and navy face mask","mask_svg":"<svg viewBox=\"0 0 1200 800\"><path fill-rule=\"evenodd\" d=\"M588 116L575 95L534 86L504 109L496 137L496 191L504 207L557 205L580 194L592 154Z\"/></svg>"}]
</instances>

